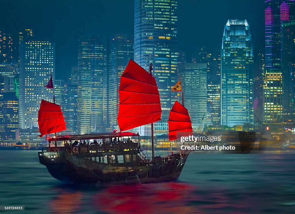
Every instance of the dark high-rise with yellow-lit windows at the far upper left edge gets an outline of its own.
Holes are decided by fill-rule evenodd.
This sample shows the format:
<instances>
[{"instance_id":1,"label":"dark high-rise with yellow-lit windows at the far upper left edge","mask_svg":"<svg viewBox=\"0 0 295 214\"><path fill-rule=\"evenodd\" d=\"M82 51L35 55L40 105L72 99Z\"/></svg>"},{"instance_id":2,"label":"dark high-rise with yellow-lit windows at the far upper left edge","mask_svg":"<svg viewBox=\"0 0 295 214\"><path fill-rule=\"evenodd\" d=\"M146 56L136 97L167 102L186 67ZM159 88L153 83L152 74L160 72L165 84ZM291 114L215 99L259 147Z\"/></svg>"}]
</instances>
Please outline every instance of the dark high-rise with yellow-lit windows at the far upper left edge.
<instances>
[{"instance_id":1,"label":"dark high-rise with yellow-lit windows at the far upper left edge","mask_svg":"<svg viewBox=\"0 0 295 214\"><path fill-rule=\"evenodd\" d=\"M0 63L10 63L13 58L13 43L10 34L0 31Z\"/></svg>"}]
</instances>

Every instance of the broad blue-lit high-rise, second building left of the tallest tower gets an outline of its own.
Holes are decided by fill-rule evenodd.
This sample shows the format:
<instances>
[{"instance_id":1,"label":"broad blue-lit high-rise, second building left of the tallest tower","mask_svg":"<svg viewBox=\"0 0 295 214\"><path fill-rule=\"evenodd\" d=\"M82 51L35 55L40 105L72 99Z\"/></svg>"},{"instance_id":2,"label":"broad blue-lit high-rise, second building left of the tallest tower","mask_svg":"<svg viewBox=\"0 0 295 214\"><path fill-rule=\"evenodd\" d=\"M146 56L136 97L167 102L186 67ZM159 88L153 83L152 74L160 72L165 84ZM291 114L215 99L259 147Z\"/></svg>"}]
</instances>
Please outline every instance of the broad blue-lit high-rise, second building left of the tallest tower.
<instances>
[{"instance_id":1,"label":"broad blue-lit high-rise, second building left of the tallest tower","mask_svg":"<svg viewBox=\"0 0 295 214\"><path fill-rule=\"evenodd\" d=\"M107 126L107 44L101 35L79 39L78 133Z\"/></svg>"}]
</instances>

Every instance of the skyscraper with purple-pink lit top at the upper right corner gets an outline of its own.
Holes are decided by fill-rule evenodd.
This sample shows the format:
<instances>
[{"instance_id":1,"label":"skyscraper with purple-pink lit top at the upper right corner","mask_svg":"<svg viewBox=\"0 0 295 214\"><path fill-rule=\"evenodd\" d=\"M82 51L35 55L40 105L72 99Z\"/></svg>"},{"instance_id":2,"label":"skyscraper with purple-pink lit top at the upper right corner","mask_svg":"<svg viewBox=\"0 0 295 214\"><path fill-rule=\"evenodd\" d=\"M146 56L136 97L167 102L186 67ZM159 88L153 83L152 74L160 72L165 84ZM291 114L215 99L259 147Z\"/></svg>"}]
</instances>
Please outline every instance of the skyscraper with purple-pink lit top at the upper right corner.
<instances>
[{"instance_id":1,"label":"skyscraper with purple-pink lit top at the upper right corner","mask_svg":"<svg viewBox=\"0 0 295 214\"><path fill-rule=\"evenodd\" d=\"M265 68L270 72L281 68L281 26L294 19L295 0L266 0L265 5Z\"/></svg>"}]
</instances>

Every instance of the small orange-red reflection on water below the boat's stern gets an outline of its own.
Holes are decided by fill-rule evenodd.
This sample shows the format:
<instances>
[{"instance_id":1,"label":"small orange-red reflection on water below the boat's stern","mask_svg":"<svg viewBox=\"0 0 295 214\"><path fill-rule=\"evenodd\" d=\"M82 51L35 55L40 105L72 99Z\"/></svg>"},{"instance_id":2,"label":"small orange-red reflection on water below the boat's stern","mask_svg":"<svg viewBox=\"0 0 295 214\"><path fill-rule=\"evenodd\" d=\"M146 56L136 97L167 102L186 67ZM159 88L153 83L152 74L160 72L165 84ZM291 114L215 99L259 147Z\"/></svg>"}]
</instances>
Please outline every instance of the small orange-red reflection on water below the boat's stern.
<instances>
[{"instance_id":1,"label":"small orange-red reflection on water below the boat's stern","mask_svg":"<svg viewBox=\"0 0 295 214\"><path fill-rule=\"evenodd\" d=\"M74 213L81 208L81 192L64 192L50 202L52 213Z\"/></svg>"}]
</instances>

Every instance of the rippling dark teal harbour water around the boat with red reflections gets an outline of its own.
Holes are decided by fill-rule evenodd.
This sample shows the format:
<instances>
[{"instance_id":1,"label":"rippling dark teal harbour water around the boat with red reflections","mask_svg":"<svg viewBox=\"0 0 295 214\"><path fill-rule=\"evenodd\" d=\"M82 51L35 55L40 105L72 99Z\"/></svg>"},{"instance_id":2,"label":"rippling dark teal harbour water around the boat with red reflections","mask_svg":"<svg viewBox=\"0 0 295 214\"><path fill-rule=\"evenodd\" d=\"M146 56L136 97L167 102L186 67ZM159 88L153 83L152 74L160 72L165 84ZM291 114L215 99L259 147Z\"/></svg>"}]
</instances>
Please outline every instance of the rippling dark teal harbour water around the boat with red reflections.
<instances>
[{"instance_id":1,"label":"rippling dark teal harbour water around the boat with red reflections","mask_svg":"<svg viewBox=\"0 0 295 214\"><path fill-rule=\"evenodd\" d=\"M177 182L65 185L36 151L0 151L0 205L25 206L7 213L294 214L294 163L293 154L191 154Z\"/></svg>"}]
</instances>

